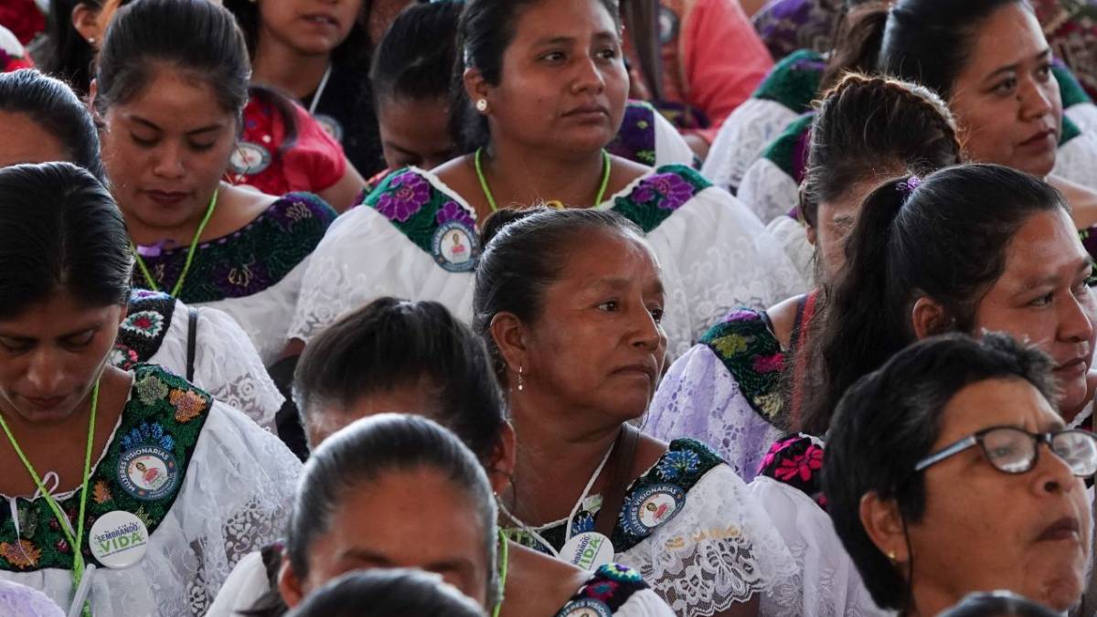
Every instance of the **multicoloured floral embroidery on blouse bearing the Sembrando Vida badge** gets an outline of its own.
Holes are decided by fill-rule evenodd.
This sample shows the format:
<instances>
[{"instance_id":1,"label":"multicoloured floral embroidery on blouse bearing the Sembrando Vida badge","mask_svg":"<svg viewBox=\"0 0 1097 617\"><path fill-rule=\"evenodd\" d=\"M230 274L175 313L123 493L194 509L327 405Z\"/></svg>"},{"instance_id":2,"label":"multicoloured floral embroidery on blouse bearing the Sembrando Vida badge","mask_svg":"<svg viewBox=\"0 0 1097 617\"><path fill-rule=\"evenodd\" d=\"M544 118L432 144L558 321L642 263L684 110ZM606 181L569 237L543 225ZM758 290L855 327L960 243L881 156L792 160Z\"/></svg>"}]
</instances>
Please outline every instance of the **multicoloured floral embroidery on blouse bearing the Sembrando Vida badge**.
<instances>
[{"instance_id":1,"label":"multicoloured floral embroidery on blouse bearing the Sembrando Vida badge","mask_svg":"<svg viewBox=\"0 0 1097 617\"><path fill-rule=\"evenodd\" d=\"M116 509L133 513L148 527L151 535L171 509L182 485L191 457L212 405L210 396L194 389L186 381L151 366L134 369L134 396L122 412L117 437L106 446L103 458L95 465L88 481L92 494L88 500L84 529L90 534L95 519ZM172 393L181 392L185 401L177 406ZM185 423L177 416L190 416ZM152 457L134 457L137 452L151 452ZM128 457L128 458L127 458ZM135 497L125 490L124 481L132 483L132 470L122 462L131 461L140 470L142 461L168 461L170 465L144 470L138 481L155 481L155 487L145 498ZM167 473L167 476L160 474ZM45 500L12 500L14 508L0 508L0 571L30 571L46 568L72 568L72 550L60 524ZM58 504L77 528L80 490L73 491ZM11 509L15 511L12 518ZM16 534L18 531L18 534ZM87 538L83 542L84 559L97 563Z\"/></svg>"}]
</instances>

